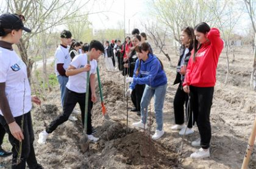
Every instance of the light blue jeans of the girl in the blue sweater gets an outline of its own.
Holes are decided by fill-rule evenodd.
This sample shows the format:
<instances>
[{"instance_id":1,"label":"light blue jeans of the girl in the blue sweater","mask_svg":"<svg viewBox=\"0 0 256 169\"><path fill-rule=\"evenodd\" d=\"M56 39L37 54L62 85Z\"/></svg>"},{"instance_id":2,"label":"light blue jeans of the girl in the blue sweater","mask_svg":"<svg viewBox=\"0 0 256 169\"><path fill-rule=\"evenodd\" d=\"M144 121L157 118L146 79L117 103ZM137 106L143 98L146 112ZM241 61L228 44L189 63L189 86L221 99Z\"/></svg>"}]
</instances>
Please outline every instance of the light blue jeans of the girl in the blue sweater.
<instances>
[{"instance_id":1,"label":"light blue jeans of the girl in the blue sweater","mask_svg":"<svg viewBox=\"0 0 256 169\"><path fill-rule=\"evenodd\" d=\"M143 92L143 96L141 99L141 122L146 124L147 116L148 116L148 105L150 103L151 98L154 96L154 107L155 107L155 114L156 114L156 124L157 130L163 130L163 106L164 106L164 99L166 94L167 84L160 85L158 87L150 87L146 85L145 90Z\"/></svg>"}]
</instances>

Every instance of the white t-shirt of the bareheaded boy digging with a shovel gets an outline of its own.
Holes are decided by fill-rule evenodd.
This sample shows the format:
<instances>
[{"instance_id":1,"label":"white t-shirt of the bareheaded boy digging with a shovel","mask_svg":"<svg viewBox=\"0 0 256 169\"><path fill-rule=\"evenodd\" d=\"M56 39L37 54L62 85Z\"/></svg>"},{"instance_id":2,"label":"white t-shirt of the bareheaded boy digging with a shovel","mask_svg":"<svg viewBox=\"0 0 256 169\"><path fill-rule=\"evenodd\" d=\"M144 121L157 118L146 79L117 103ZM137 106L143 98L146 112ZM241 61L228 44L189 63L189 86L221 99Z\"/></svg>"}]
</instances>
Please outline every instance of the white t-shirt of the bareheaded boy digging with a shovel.
<instances>
[{"instance_id":1,"label":"white t-shirt of the bareheaded boy digging with a shovel","mask_svg":"<svg viewBox=\"0 0 256 169\"><path fill-rule=\"evenodd\" d=\"M71 66L74 66L76 69L83 68L87 64L87 55L81 54L76 55L72 62L70 63ZM97 61L93 59L90 61L91 70L90 75L93 73L97 73ZM70 91L78 92L78 93L84 93L86 92L86 71L83 71L81 73L78 73L77 75L68 77L68 82L66 87Z\"/></svg>"}]
</instances>

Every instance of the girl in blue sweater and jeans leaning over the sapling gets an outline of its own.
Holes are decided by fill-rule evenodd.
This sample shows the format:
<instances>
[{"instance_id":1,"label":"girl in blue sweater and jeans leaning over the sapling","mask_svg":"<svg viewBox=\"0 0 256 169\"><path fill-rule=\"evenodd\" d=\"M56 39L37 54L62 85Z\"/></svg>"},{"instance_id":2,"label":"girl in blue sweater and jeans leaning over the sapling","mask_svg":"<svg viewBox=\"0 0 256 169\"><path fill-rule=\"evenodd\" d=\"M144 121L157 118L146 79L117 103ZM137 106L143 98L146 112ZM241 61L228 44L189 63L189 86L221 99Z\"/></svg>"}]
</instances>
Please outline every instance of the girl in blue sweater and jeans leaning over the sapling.
<instances>
[{"instance_id":1,"label":"girl in blue sweater and jeans leaning over the sapling","mask_svg":"<svg viewBox=\"0 0 256 169\"><path fill-rule=\"evenodd\" d=\"M134 69L134 76L126 78L131 82L130 89L134 90L136 84L145 84L145 90L141 99L141 121L134 122L132 126L147 129L148 104L154 96L154 107L156 114L156 133L152 136L157 140L164 135L163 129L163 105L166 94L167 78L162 62L149 52L147 43L140 43L135 47L138 60Z\"/></svg>"}]
</instances>

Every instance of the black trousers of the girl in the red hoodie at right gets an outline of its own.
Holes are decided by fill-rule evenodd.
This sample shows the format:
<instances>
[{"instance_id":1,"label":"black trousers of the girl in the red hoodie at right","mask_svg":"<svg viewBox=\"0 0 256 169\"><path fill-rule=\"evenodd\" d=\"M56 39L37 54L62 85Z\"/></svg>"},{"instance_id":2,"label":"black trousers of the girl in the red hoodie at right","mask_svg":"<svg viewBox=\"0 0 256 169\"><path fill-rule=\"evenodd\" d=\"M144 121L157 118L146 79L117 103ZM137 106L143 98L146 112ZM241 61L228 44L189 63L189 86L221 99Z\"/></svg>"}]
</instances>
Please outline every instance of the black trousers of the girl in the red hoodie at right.
<instances>
[{"instance_id":1,"label":"black trousers of the girl in the red hoodie at right","mask_svg":"<svg viewBox=\"0 0 256 169\"><path fill-rule=\"evenodd\" d=\"M191 108L201 138L201 147L208 149L211 142L210 113L214 87L190 86Z\"/></svg>"}]
</instances>

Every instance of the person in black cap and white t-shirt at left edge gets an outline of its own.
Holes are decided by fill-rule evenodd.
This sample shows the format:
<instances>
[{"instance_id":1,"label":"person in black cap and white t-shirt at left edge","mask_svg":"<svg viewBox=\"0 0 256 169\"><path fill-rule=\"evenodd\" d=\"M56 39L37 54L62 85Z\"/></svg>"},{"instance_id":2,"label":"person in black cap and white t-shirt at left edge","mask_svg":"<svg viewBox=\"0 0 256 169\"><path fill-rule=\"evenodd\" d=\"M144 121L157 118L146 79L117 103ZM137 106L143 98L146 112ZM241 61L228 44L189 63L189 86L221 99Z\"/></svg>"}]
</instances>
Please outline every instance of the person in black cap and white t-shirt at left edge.
<instances>
[{"instance_id":1,"label":"person in black cap and white t-shirt at left edge","mask_svg":"<svg viewBox=\"0 0 256 169\"><path fill-rule=\"evenodd\" d=\"M22 31L31 32L23 20L22 15L0 15L0 124L12 144L12 169L25 169L26 164L31 169L43 169L36 160L30 112L32 102L40 105L41 101L31 96L26 64L12 47L19 43Z\"/></svg>"}]
</instances>

